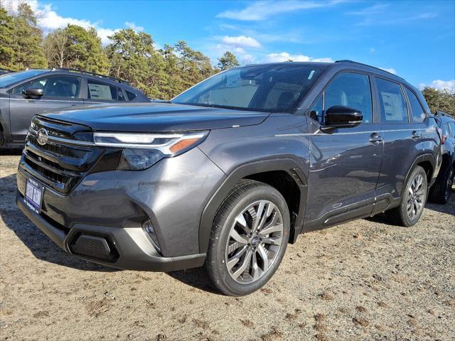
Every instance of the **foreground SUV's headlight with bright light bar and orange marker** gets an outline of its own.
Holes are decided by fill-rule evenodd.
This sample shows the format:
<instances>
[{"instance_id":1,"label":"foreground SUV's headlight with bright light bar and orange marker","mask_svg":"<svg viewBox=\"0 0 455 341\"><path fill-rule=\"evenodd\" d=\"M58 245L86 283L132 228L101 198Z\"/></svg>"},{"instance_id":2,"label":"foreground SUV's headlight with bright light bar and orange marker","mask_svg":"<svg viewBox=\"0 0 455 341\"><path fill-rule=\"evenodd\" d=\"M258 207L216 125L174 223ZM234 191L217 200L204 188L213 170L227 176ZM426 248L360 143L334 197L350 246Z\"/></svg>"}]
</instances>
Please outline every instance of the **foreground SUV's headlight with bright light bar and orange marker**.
<instances>
[{"instance_id":1,"label":"foreground SUV's headlight with bright light bar and orange marker","mask_svg":"<svg viewBox=\"0 0 455 341\"><path fill-rule=\"evenodd\" d=\"M161 160L180 155L200 144L208 131L179 134L95 132L95 146L123 148L119 171L141 171Z\"/></svg>"}]
</instances>

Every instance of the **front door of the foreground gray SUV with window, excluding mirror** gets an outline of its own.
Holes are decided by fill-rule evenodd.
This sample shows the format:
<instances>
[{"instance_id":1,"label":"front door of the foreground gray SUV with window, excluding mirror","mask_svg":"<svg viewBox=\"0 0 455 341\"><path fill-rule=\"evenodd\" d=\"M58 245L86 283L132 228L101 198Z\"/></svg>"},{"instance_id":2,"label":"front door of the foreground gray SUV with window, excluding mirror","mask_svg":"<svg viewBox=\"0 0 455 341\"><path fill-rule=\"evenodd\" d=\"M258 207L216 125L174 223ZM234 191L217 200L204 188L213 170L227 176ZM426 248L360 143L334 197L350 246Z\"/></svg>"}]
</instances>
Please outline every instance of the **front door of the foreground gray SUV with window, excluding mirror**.
<instances>
[{"instance_id":1,"label":"front door of the foreground gray SUV with window, excluding mirror","mask_svg":"<svg viewBox=\"0 0 455 341\"><path fill-rule=\"evenodd\" d=\"M311 109L306 229L370 215L373 210L383 143L373 117L371 82L369 75L338 74ZM335 105L360 110L363 122L354 128L321 131L324 112Z\"/></svg>"}]
</instances>

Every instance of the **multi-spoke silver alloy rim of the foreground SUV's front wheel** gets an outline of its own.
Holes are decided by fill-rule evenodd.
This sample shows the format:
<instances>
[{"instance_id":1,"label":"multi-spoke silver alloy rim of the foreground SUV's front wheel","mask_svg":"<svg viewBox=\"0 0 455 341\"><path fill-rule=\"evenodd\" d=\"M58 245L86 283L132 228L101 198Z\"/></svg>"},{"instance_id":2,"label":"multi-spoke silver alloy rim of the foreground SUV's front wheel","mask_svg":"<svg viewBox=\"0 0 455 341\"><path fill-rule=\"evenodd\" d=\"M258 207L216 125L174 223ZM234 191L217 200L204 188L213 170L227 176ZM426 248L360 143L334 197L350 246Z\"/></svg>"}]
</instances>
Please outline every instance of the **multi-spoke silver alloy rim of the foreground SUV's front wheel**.
<instances>
[{"instance_id":1,"label":"multi-spoke silver alloy rim of the foreground SUV's front wheel","mask_svg":"<svg viewBox=\"0 0 455 341\"><path fill-rule=\"evenodd\" d=\"M252 283L272 267L283 238L283 218L268 200L252 203L237 215L229 232L225 264L237 283Z\"/></svg>"}]
</instances>

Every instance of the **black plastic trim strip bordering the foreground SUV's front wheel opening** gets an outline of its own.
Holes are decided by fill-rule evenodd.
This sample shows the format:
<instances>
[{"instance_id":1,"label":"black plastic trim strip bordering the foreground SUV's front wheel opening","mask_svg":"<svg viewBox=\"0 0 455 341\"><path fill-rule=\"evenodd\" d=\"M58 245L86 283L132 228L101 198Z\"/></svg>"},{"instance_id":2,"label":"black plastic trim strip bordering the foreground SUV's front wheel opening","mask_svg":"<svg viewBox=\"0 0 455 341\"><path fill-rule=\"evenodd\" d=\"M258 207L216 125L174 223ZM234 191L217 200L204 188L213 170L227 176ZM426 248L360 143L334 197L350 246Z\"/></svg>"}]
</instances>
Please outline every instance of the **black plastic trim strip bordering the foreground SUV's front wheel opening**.
<instances>
[{"instance_id":1,"label":"black plastic trim strip bordering the foreground SUV's front wheel opening","mask_svg":"<svg viewBox=\"0 0 455 341\"><path fill-rule=\"evenodd\" d=\"M264 173L269 171L286 171L291 178L294 179L296 185L300 189L300 205L299 215L295 224L294 235L291 235L291 242L295 242L297 235L301 232L304 222L305 208L306 208L306 195L307 195L307 179L304 172L301 171L301 166L294 160L294 158L272 158L259 161L253 161L243 164L235 168L228 174L223 183L218 187L215 193L210 197L208 203L205 205L199 225L199 252L205 253L208 250L208 243L210 240L210 232L212 230L213 220L218 212L228 193L235 184L242 178L254 175L257 173Z\"/></svg>"}]
</instances>

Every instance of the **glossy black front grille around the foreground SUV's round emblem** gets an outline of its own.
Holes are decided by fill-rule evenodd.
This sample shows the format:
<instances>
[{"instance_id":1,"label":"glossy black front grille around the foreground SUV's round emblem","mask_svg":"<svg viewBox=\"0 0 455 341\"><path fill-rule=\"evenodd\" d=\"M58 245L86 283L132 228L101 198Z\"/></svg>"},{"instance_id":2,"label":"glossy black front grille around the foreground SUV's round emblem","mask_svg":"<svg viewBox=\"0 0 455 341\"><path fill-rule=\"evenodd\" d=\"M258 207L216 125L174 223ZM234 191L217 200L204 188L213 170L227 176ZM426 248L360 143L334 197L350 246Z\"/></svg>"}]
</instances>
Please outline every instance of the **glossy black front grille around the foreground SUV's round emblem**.
<instances>
[{"instance_id":1,"label":"glossy black front grille around the foreground SUV's round emblem","mask_svg":"<svg viewBox=\"0 0 455 341\"><path fill-rule=\"evenodd\" d=\"M48 141L43 145L38 143L39 129L48 132ZM58 192L68 193L102 155L102 148L87 141L91 134L86 126L35 117L20 166Z\"/></svg>"}]
</instances>

